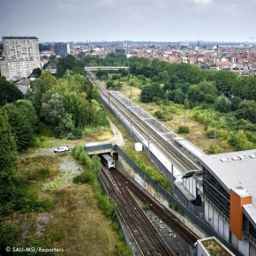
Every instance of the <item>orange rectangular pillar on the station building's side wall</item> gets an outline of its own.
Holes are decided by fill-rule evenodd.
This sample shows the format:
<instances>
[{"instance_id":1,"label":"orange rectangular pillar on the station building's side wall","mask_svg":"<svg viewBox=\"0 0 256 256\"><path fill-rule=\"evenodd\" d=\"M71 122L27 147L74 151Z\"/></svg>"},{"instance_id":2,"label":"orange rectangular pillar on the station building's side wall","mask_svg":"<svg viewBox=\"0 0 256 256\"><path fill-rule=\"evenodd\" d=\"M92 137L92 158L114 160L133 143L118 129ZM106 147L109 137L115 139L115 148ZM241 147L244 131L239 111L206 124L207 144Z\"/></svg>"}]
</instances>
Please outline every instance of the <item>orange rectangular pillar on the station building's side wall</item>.
<instances>
[{"instance_id":1,"label":"orange rectangular pillar on the station building's side wall","mask_svg":"<svg viewBox=\"0 0 256 256\"><path fill-rule=\"evenodd\" d=\"M243 206L252 204L252 194L244 187L237 186L230 189L230 231L242 240Z\"/></svg>"}]
</instances>

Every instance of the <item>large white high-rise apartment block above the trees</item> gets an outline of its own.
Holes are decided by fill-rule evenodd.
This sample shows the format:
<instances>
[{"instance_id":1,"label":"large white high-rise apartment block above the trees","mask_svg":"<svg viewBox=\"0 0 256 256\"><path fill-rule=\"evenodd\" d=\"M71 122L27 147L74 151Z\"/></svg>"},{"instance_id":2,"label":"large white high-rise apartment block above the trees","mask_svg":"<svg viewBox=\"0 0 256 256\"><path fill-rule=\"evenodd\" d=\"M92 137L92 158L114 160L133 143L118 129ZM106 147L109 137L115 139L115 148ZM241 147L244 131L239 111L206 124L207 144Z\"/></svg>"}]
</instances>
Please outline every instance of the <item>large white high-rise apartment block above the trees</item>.
<instances>
[{"instance_id":1,"label":"large white high-rise apartment block above the trees","mask_svg":"<svg viewBox=\"0 0 256 256\"><path fill-rule=\"evenodd\" d=\"M27 77L34 68L41 68L38 38L4 36L4 61L0 62L1 75Z\"/></svg>"}]
</instances>

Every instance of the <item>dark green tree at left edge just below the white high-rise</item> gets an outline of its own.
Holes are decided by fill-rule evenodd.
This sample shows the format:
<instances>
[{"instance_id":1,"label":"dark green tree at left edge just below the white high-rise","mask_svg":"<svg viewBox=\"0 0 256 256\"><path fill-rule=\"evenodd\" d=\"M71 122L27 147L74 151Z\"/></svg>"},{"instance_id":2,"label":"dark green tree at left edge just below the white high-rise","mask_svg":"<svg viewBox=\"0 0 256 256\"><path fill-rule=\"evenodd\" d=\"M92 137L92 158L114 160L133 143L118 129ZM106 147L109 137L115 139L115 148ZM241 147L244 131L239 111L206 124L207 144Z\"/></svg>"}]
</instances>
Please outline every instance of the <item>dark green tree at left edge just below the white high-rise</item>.
<instances>
[{"instance_id":1,"label":"dark green tree at left edge just below the white high-rise","mask_svg":"<svg viewBox=\"0 0 256 256\"><path fill-rule=\"evenodd\" d=\"M17 87L7 81L4 77L0 78L0 106L6 103L15 102L23 99L24 95Z\"/></svg>"}]
</instances>

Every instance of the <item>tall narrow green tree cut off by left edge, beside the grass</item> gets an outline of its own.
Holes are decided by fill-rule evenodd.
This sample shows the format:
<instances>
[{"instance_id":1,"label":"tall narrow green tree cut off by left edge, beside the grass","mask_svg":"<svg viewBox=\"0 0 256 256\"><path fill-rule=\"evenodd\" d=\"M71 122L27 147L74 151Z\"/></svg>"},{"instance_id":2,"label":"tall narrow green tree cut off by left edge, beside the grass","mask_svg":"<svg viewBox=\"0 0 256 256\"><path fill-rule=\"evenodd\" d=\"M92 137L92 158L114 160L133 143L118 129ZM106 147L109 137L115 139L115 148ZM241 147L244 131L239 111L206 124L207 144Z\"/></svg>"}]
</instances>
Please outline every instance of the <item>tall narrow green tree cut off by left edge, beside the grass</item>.
<instances>
[{"instance_id":1,"label":"tall narrow green tree cut off by left edge, beside the grass","mask_svg":"<svg viewBox=\"0 0 256 256\"><path fill-rule=\"evenodd\" d=\"M13 207L15 176L17 174L17 149L5 109L0 109L0 214Z\"/></svg>"}]
</instances>

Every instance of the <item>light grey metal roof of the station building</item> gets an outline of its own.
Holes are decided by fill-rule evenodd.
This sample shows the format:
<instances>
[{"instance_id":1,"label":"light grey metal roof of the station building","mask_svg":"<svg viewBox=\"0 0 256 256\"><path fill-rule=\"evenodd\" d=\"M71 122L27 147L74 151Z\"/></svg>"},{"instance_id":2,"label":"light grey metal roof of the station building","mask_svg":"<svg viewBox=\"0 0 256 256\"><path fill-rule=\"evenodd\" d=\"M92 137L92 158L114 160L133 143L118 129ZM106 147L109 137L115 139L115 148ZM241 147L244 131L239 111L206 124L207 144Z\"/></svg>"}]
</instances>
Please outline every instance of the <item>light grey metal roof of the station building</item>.
<instances>
[{"instance_id":1,"label":"light grey metal roof of the station building","mask_svg":"<svg viewBox=\"0 0 256 256\"><path fill-rule=\"evenodd\" d=\"M256 149L200 156L199 161L228 193L242 186L252 194L244 213L256 228Z\"/></svg>"}]
</instances>

